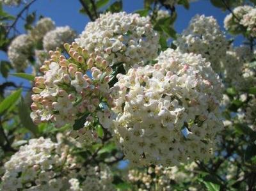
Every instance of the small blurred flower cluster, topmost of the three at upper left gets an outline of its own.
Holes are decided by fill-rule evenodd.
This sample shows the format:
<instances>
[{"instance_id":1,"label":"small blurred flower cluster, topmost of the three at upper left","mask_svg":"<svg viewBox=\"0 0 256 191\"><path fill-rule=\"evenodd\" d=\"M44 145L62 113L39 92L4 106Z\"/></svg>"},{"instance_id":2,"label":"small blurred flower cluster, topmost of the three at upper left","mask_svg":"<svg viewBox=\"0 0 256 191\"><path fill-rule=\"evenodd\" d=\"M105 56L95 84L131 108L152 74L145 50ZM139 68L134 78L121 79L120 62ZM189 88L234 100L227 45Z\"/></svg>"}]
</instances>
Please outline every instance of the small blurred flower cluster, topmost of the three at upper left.
<instances>
[{"instance_id":1,"label":"small blurred flower cluster, topmost of the three at upper left","mask_svg":"<svg viewBox=\"0 0 256 191\"><path fill-rule=\"evenodd\" d=\"M45 17L38 20L36 26L29 31L29 34L33 40L39 41L44 38L46 33L53 29L55 29L55 22L51 18Z\"/></svg>"}]
</instances>

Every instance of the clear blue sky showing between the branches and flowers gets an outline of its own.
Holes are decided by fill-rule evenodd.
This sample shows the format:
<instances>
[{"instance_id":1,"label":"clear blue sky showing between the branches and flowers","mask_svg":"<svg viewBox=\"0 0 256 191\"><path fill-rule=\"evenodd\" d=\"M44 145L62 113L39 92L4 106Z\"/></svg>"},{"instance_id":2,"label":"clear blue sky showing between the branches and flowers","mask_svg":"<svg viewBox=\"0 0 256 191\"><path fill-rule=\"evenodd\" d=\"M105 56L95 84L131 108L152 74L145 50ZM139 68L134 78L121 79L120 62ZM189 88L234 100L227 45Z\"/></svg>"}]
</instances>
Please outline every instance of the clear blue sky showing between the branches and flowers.
<instances>
[{"instance_id":1,"label":"clear blue sky showing between the branches and flowers","mask_svg":"<svg viewBox=\"0 0 256 191\"><path fill-rule=\"evenodd\" d=\"M28 0L29 1L29 0ZM113 0L111 0L113 2ZM124 11L132 13L136 10L143 9L143 0L123 0ZM84 27L88 23L88 17L79 13L81 4L78 0L37 0L29 9L29 11L36 10L36 15L43 15L44 17L51 17L56 22L56 26L70 26L81 33ZM8 11L12 15L17 15L20 8L10 8L4 6L4 10ZM204 14L206 16L213 16L218 20L221 28L223 29L223 20L228 12L223 12L218 8L211 5L210 0L198 0L195 3L190 4L189 10L186 10L183 6L177 6L176 8L178 17L175 22L175 30L180 33L188 26L189 20L196 14ZM19 20L17 29L21 33L24 33L23 29L24 21ZM241 43L241 38L237 38L236 45ZM0 59L7 59L3 52L0 52ZM19 80L16 77L11 77L10 80ZM3 82L3 77L0 76L0 82Z\"/></svg>"}]
</instances>

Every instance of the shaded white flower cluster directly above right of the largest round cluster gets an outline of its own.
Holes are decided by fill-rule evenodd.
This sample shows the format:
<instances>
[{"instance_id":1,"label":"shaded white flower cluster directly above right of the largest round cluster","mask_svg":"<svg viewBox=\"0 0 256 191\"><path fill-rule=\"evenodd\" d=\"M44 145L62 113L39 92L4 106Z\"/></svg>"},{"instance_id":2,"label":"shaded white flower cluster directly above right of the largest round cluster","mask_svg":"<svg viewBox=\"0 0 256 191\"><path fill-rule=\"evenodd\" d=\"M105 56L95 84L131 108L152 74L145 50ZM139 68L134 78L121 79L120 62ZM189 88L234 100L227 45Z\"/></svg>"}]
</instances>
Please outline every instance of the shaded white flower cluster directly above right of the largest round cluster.
<instances>
[{"instance_id":1,"label":"shaded white flower cluster directly above right of the largest round cluster","mask_svg":"<svg viewBox=\"0 0 256 191\"><path fill-rule=\"evenodd\" d=\"M220 59L225 57L228 42L213 17L196 15L174 42L181 52L201 54L211 62L214 71L220 71Z\"/></svg>"}]
</instances>

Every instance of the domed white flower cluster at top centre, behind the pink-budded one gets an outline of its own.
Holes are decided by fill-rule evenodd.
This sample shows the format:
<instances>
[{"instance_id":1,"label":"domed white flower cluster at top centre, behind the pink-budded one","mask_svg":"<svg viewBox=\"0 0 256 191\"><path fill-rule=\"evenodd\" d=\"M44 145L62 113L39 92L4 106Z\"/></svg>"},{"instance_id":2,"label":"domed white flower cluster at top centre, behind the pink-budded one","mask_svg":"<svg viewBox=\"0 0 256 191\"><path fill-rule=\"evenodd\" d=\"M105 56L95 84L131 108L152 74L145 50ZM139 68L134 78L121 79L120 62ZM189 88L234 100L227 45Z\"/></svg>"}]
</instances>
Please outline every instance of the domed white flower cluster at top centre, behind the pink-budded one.
<instances>
[{"instance_id":1,"label":"domed white flower cluster at top centre, behind the pink-budded one","mask_svg":"<svg viewBox=\"0 0 256 191\"><path fill-rule=\"evenodd\" d=\"M76 42L89 53L104 57L109 65L126 68L157 57L159 36L149 17L138 14L106 13L89 22Z\"/></svg>"}]
</instances>

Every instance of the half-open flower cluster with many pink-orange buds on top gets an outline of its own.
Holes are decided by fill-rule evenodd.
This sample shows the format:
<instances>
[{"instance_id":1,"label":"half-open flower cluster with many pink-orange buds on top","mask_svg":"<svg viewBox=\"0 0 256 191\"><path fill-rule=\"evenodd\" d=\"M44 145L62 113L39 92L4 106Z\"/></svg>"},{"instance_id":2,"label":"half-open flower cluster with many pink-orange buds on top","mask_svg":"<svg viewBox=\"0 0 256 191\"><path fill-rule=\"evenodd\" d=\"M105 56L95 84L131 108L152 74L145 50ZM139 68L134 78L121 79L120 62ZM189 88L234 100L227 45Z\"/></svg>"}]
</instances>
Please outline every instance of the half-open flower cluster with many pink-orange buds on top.
<instances>
[{"instance_id":1,"label":"half-open flower cluster with many pink-orange buds on top","mask_svg":"<svg viewBox=\"0 0 256 191\"><path fill-rule=\"evenodd\" d=\"M44 76L35 78L35 94L31 96L35 123L52 121L61 127L74 125L76 119L86 116L92 121L102 100L111 104L108 82L112 69L106 60L88 55L77 43L66 43L65 49L69 59L58 50L50 51L51 59L40 68Z\"/></svg>"}]
</instances>

